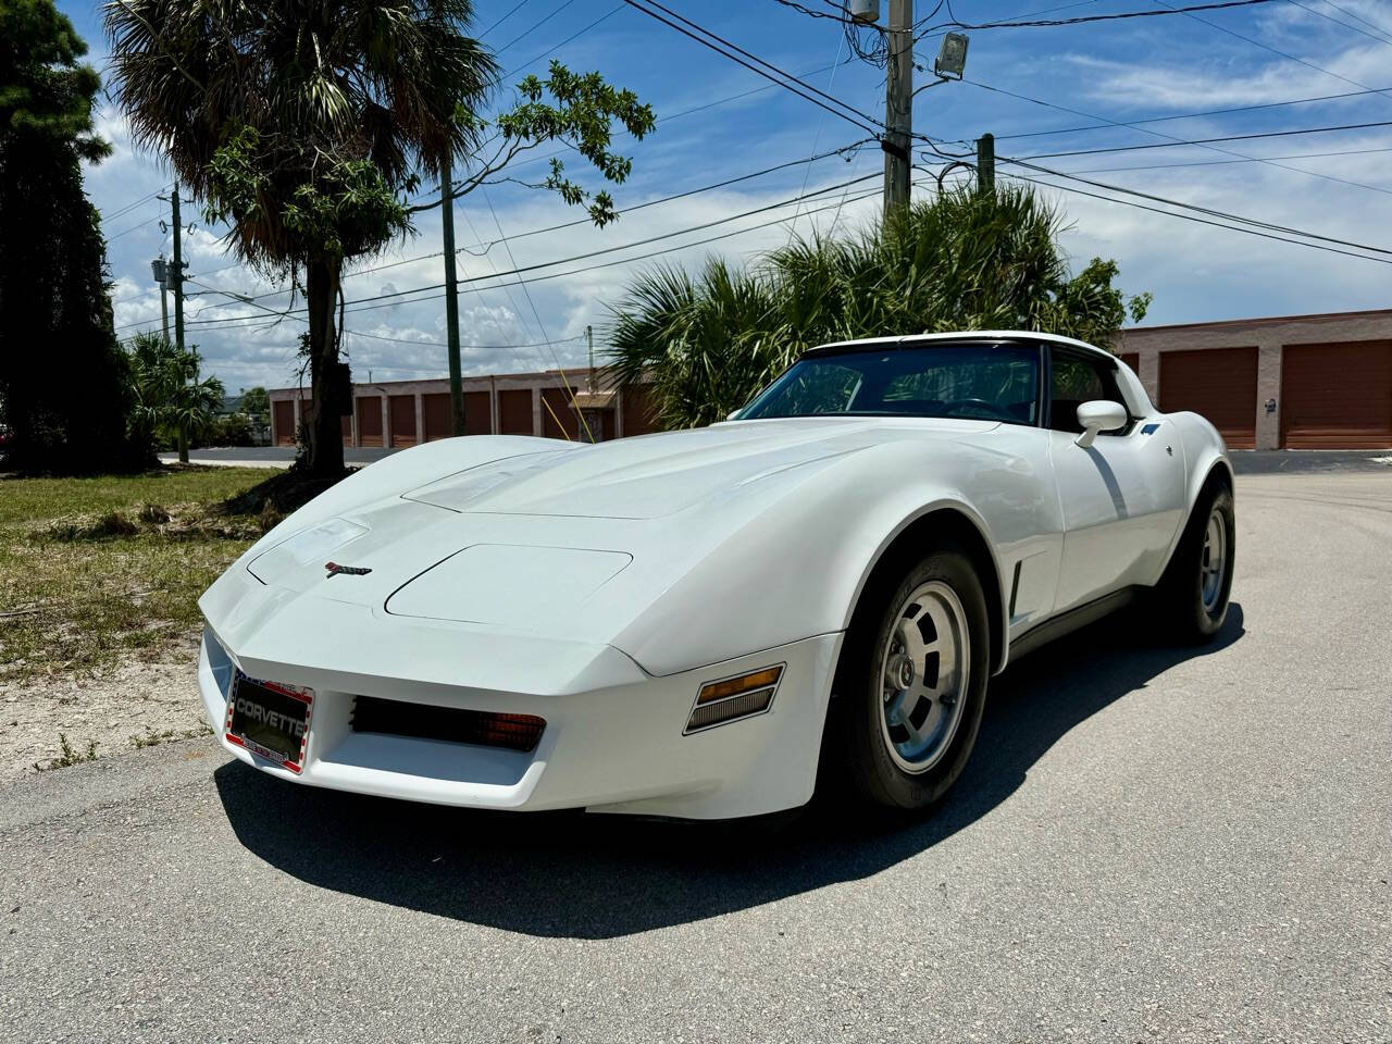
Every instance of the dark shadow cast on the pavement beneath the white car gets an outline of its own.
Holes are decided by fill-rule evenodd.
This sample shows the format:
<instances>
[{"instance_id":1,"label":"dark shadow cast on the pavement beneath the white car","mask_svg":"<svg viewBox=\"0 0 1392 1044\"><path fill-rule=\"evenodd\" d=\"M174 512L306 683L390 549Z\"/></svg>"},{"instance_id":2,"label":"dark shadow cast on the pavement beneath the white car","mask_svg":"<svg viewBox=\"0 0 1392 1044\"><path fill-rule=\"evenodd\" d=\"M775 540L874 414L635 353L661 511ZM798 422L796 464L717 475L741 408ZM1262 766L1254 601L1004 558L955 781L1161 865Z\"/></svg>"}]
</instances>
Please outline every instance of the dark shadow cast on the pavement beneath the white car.
<instances>
[{"instance_id":1,"label":"dark shadow cast on the pavement beneath the white car","mask_svg":"<svg viewBox=\"0 0 1392 1044\"><path fill-rule=\"evenodd\" d=\"M863 878L931 848L1027 785L1069 729L1237 642L1242 607L1207 646L1154 644L1147 631L1122 614L992 679L967 770L927 818L867 821L818 795L784 830L721 828L415 805L296 786L241 761L214 780L241 844L309 884L508 931L611 938Z\"/></svg>"}]
</instances>

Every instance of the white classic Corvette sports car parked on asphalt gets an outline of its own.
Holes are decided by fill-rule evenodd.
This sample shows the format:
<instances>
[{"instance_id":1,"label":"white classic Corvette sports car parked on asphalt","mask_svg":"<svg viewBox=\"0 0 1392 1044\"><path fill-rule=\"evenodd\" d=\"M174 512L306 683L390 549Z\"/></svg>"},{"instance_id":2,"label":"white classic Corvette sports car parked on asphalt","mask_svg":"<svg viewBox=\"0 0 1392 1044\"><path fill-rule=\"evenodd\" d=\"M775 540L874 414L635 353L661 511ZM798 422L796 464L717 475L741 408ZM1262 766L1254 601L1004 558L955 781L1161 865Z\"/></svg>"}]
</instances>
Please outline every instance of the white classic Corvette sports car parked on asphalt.
<instances>
[{"instance_id":1,"label":"white classic Corvette sports car parked on asphalt","mask_svg":"<svg viewBox=\"0 0 1392 1044\"><path fill-rule=\"evenodd\" d=\"M203 594L199 682L285 780L688 818L935 802L987 679L1146 596L1224 622L1222 438L1079 341L828 344L731 420L427 443L352 475Z\"/></svg>"}]
</instances>

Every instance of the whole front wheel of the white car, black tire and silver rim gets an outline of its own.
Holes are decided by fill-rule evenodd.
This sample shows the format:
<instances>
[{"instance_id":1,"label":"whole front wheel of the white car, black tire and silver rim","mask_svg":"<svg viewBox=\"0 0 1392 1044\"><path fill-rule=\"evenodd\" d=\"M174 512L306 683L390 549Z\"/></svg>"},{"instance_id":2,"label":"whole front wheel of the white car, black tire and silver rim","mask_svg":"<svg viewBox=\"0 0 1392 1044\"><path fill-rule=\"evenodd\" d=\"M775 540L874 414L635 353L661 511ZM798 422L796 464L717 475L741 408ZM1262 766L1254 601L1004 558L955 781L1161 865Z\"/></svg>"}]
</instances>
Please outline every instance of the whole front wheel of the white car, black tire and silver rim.
<instances>
[{"instance_id":1,"label":"whole front wheel of the white car, black tire and silver rim","mask_svg":"<svg viewBox=\"0 0 1392 1044\"><path fill-rule=\"evenodd\" d=\"M889 583L867 589L846 635L834 724L863 798L924 809L976 743L990 674L986 596L949 546Z\"/></svg>"}]
</instances>

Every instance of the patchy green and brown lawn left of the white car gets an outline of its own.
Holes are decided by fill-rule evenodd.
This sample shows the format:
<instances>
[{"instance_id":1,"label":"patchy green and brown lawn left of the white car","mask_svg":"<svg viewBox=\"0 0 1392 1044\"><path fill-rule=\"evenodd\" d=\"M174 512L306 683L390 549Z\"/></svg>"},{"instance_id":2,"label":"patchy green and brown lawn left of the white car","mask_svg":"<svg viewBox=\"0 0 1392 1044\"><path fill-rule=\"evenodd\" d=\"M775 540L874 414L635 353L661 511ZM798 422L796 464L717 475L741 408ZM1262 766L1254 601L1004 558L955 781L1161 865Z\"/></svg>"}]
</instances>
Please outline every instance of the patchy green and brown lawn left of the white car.
<instances>
[{"instance_id":1,"label":"patchy green and brown lawn left of the white car","mask_svg":"<svg viewBox=\"0 0 1392 1044\"><path fill-rule=\"evenodd\" d=\"M263 532L259 514L224 505L264 477L238 468L0 477L0 682L187 647L199 594Z\"/></svg>"}]
</instances>

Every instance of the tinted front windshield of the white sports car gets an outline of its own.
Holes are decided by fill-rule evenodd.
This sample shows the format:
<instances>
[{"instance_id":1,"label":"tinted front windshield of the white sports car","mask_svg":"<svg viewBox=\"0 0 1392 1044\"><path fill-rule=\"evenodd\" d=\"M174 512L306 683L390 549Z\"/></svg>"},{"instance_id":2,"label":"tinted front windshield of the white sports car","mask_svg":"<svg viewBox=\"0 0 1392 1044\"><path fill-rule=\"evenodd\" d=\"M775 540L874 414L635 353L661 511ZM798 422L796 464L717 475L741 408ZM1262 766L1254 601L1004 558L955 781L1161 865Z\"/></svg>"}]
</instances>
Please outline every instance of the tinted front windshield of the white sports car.
<instances>
[{"instance_id":1,"label":"tinted front windshield of the white sports car","mask_svg":"<svg viewBox=\"0 0 1392 1044\"><path fill-rule=\"evenodd\" d=\"M1038 349L938 341L817 352L793 363L739 418L828 413L941 416L1034 425Z\"/></svg>"}]
</instances>

